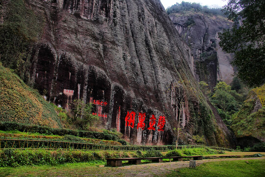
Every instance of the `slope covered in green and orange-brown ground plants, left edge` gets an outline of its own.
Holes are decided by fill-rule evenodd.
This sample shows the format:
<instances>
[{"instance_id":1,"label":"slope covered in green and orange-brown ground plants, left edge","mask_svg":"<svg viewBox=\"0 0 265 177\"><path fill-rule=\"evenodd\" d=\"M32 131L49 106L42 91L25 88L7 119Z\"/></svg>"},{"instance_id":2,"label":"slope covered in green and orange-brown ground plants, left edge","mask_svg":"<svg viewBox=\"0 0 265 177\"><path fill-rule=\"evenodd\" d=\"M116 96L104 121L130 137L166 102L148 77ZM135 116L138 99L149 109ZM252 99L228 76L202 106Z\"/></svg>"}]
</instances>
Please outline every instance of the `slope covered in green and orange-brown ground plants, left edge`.
<instances>
[{"instance_id":1,"label":"slope covered in green and orange-brown ground plants, left edge","mask_svg":"<svg viewBox=\"0 0 265 177\"><path fill-rule=\"evenodd\" d=\"M61 127L53 106L1 63L0 121Z\"/></svg>"}]
</instances>

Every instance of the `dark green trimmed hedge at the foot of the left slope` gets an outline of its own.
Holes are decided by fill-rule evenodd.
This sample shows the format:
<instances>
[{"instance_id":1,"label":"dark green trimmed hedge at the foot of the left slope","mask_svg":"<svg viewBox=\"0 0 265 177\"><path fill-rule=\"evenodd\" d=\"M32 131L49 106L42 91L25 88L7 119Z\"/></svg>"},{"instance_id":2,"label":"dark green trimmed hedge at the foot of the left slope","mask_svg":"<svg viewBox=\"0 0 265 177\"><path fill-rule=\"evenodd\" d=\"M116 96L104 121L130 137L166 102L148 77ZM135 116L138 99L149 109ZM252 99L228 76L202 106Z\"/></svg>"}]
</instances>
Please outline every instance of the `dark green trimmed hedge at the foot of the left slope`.
<instances>
[{"instance_id":1,"label":"dark green trimmed hedge at the foot of the left slope","mask_svg":"<svg viewBox=\"0 0 265 177\"><path fill-rule=\"evenodd\" d=\"M29 125L21 124L16 122L1 122L0 121L0 130L18 130L21 132L38 132L45 133L48 135L73 135L84 138L96 138L96 139L105 139L105 140L117 140L118 138L115 135L107 134L106 132L90 132L90 131L78 131L78 130L68 130L68 129L57 129L46 126L38 125Z\"/></svg>"}]
</instances>

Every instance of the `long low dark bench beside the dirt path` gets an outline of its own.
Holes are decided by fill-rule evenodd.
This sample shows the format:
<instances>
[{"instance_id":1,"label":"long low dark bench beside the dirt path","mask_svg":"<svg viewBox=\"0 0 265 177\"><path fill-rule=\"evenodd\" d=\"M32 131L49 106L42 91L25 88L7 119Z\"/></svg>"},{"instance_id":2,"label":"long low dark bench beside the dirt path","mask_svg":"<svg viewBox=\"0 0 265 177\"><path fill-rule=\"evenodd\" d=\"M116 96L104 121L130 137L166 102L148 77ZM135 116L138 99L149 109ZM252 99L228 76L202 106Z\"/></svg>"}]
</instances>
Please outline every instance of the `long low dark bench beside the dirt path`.
<instances>
[{"instance_id":1,"label":"long low dark bench beside the dirt path","mask_svg":"<svg viewBox=\"0 0 265 177\"><path fill-rule=\"evenodd\" d=\"M163 162L163 159L169 159L171 162L171 159L173 161L183 161L183 158L192 158L193 160L202 160L202 155L196 155L196 156L175 156L175 157L144 157L144 158L107 158L106 165L110 167L121 167L122 161L128 161L129 164L135 164L139 165L141 164L141 160L152 160L152 162Z\"/></svg>"}]
</instances>

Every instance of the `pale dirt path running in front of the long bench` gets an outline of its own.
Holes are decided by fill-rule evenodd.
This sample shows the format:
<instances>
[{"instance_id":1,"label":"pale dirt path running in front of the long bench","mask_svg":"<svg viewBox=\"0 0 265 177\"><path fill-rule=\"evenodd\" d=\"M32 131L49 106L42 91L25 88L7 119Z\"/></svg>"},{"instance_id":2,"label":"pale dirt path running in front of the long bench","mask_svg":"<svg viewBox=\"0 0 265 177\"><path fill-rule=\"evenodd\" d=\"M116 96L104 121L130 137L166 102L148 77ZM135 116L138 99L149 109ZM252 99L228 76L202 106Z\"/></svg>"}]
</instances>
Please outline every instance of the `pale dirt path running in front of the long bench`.
<instances>
[{"instance_id":1,"label":"pale dirt path running in front of the long bench","mask_svg":"<svg viewBox=\"0 0 265 177\"><path fill-rule=\"evenodd\" d=\"M265 159L265 157L205 159L205 160L197 160L196 165L198 166L206 162L250 160L250 159ZM159 176L162 174L167 174L170 173L172 170L185 168L185 167L189 167L189 161L131 165L125 167L118 167L117 169L122 171L125 177L153 177L154 175Z\"/></svg>"}]
</instances>

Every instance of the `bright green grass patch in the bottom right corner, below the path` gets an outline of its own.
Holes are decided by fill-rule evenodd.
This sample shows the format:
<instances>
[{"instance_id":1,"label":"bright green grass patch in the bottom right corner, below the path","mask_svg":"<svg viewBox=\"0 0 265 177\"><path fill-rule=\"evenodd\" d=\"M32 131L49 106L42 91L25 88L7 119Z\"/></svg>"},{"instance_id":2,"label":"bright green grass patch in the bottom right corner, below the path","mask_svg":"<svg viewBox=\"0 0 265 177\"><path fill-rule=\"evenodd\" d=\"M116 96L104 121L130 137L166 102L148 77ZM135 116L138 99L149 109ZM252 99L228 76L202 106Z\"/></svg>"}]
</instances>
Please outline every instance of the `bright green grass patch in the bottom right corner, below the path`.
<instances>
[{"instance_id":1,"label":"bright green grass patch in the bottom right corner, below the path","mask_svg":"<svg viewBox=\"0 0 265 177\"><path fill-rule=\"evenodd\" d=\"M176 170L166 177L264 177L264 164L265 160L211 162Z\"/></svg>"}]
</instances>

